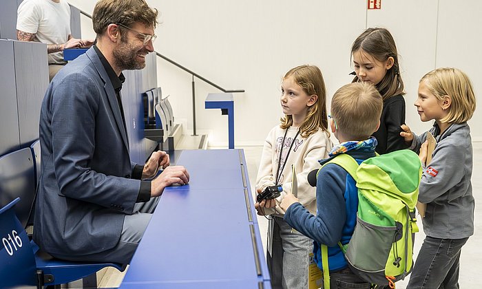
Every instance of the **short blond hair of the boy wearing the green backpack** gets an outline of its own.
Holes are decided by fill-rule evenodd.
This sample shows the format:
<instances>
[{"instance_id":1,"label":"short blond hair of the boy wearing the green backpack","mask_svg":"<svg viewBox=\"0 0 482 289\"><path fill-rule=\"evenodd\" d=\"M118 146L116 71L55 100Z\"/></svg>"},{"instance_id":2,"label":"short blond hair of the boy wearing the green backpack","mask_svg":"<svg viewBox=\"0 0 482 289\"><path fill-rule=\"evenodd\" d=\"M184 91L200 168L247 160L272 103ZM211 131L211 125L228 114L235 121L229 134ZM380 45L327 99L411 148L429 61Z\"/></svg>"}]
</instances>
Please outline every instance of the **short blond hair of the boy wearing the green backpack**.
<instances>
[{"instance_id":1,"label":"short blond hair of the boy wearing the green backpack","mask_svg":"<svg viewBox=\"0 0 482 289\"><path fill-rule=\"evenodd\" d=\"M331 116L337 129L352 140L365 140L377 130L383 100L370 83L342 86L331 99Z\"/></svg>"}]
</instances>

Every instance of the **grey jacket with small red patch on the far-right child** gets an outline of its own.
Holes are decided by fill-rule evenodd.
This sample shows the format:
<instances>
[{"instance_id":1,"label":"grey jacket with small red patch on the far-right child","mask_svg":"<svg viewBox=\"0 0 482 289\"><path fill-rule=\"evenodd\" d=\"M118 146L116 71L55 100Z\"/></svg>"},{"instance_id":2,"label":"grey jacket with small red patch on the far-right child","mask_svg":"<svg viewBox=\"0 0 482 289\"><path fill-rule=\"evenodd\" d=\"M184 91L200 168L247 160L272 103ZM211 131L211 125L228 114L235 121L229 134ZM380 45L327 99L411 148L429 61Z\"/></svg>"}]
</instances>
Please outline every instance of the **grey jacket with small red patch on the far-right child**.
<instances>
[{"instance_id":1,"label":"grey jacket with small red patch on the far-right child","mask_svg":"<svg viewBox=\"0 0 482 289\"><path fill-rule=\"evenodd\" d=\"M438 125L430 129L437 140L432 162L423 167L419 202L427 204L423 218L426 235L461 239L474 234L472 196L472 139L467 122L454 123L440 135ZM415 136L413 151L419 151L427 133Z\"/></svg>"}]
</instances>

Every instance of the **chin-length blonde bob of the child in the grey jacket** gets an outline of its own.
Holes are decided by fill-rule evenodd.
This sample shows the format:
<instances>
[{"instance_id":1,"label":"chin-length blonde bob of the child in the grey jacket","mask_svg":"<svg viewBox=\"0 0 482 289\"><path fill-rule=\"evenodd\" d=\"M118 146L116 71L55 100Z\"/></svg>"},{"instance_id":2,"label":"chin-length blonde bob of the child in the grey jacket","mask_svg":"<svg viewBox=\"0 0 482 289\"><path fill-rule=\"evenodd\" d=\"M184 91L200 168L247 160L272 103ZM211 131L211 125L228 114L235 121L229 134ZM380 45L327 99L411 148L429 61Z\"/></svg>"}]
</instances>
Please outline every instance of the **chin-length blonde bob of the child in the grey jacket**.
<instances>
[{"instance_id":1,"label":"chin-length blonde bob of the child in the grey jacket","mask_svg":"<svg viewBox=\"0 0 482 289\"><path fill-rule=\"evenodd\" d=\"M461 123L472 118L476 100L467 74L457 68L437 68L424 75L420 82L422 81L425 81L428 90L438 100L443 100L444 96L452 98L448 114L441 122Z\"/></svg>"}]
</instances>

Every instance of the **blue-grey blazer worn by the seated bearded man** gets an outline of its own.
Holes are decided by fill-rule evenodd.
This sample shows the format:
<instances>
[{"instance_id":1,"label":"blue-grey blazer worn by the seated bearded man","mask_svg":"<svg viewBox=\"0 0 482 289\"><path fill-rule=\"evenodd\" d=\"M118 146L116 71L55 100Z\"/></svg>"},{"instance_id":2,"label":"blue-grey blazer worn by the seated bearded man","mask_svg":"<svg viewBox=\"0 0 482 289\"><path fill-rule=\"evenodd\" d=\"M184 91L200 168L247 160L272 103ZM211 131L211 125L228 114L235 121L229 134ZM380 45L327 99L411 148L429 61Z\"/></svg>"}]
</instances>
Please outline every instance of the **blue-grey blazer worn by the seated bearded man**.
<instances>
[{"instance_id":1,"label":"blue-grey blazer worn by the seated bearded man","mask_svg":"<svg viewBox=\"0 0 482 289\"><path fill-rule=\"evenodd\" d=\"M34 241L52 255L85 255L118 243L140 180L131 179L114 87L93 47L67 64L45 93Z\"/></svg>"}]
</instances>

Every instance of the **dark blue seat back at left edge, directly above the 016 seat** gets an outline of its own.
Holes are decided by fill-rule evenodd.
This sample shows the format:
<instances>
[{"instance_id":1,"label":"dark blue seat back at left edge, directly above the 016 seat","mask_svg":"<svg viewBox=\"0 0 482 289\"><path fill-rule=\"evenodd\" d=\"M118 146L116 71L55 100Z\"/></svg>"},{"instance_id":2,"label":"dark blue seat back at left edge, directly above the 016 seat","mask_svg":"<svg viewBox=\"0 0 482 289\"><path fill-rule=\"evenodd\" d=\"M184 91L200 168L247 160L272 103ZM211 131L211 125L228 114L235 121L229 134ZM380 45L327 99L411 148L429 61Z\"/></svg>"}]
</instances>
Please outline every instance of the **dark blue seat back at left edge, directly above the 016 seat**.
<instances>
[{"instance_id":1,"label":"dark blue seat back at left edge, directly above the 016 seat","mask_svg":"<svg viewBox=\"0 0 482 289\"><path fill-rule=\"evenodd\" d=\"M17 197L21 202L14 208L23 227L28 222L35 194L34 157L30 147L0 157L0 207Z\"/></svg>"}]
</instances>

